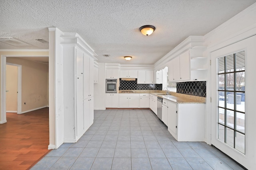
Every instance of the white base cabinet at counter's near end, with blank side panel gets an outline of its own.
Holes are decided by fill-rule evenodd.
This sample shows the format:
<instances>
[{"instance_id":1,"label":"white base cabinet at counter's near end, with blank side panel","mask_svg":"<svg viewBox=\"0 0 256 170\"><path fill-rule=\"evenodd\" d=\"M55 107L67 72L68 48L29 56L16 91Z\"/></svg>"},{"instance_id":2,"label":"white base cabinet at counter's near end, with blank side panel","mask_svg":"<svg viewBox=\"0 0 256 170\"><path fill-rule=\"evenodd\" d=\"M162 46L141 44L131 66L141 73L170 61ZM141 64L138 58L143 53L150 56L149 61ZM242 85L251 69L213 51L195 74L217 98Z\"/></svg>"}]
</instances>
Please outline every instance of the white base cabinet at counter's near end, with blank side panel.
<instances>
[{"instance_id":1,"label":"white base cabinet at counter's near end, with blank side panel","mask_svg":"<svg viewBox=\"0 0 256 170\"><path fill-rule=\"evenodd\" d=\"M168 102L168 131L177 141L204 141L204 111L205 104Z\"/></svg>"}]
</instances>

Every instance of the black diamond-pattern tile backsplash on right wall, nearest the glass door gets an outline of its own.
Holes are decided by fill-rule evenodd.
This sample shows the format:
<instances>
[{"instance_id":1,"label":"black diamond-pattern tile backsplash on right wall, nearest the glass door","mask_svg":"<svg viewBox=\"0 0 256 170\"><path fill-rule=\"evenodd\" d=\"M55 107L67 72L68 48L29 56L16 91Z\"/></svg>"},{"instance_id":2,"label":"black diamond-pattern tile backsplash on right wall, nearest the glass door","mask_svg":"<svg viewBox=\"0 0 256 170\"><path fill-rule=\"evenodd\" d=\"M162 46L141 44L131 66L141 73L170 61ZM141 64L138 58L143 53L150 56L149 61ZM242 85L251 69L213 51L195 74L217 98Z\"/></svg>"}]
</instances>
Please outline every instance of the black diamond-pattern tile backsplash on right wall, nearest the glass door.
<instances>
[{"instance_id":1,"label":"black diamond-pattern tile backsplash on right wall, nearest the glass door","mask_svg":"<svg viewBox=\"0 0 256 170\"><path fill-rule=\"evenodd\" d=\"M177 83L177 93L206 97L206 81Z\"/></svg>"}]
</instances>

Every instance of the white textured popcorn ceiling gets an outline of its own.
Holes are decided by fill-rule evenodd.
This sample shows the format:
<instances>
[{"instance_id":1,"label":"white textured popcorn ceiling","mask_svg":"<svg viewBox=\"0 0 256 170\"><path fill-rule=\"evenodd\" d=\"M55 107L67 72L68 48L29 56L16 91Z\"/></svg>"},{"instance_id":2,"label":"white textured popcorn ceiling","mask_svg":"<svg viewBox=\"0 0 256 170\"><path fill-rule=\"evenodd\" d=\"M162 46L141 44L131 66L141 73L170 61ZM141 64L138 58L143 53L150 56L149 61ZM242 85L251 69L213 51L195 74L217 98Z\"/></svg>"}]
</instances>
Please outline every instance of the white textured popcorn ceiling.
<instances>
[{"instance_id":1,"label":"white textured popcorn ceiling","mask_svg":"<svg viewBox=\"0 0 256 170\"><path fill-rule=\"evenodd\" d=\"M0 37L48 49L48 27L78 33L98 62L154 64L190 35L205 35L256 0L1 0ZM142 25L154 25L148 37ZM110 57L104 57L109 54ZM123 56L130 55L126 61Z\"/></svg>"}]
</instances>

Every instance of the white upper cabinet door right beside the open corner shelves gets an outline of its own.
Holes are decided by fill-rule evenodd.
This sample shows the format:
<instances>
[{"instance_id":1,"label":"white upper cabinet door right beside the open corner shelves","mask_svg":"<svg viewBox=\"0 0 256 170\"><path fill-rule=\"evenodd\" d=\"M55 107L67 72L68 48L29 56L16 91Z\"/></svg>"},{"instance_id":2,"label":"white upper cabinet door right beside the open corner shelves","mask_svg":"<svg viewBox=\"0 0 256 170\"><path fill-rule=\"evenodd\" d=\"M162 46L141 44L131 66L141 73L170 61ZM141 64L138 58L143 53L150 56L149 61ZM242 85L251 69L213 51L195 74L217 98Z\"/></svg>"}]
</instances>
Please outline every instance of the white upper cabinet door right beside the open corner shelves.
<instances>
[{"instance_id":1,"label":"white upper cabinet door right beside the open corner shelves","mask_svg":"<svg viewBox=\"0 0 256 170\"><path fill-rule=\"evenodd\" d=\"M180 55L180 80L190 80L189 51Z\"/></svg>"}]
</instances>

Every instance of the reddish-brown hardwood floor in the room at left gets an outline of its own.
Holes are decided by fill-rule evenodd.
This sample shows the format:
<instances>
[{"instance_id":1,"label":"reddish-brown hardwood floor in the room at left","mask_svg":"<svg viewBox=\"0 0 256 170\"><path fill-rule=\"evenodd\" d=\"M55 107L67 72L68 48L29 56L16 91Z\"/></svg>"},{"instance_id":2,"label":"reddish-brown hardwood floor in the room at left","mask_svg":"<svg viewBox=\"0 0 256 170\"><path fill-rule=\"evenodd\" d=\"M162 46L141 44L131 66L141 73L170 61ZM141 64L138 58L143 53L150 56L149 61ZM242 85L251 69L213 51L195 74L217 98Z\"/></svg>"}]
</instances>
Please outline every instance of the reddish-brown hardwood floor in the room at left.
<instances>
[{"instance_id":1,"label":"reddish-brown hardwood floor in the room at left","mask_svg":"<svg viewBox=\"0 0 256 170\"><path fill-rule=\"evenodd\" d=\"M6 119L0 124L0 170L29 169L50 151L49 109L6 113Z\"/></svg>"}]
</instances>

